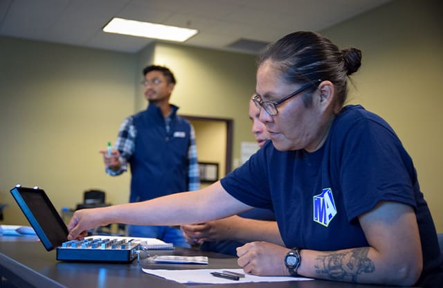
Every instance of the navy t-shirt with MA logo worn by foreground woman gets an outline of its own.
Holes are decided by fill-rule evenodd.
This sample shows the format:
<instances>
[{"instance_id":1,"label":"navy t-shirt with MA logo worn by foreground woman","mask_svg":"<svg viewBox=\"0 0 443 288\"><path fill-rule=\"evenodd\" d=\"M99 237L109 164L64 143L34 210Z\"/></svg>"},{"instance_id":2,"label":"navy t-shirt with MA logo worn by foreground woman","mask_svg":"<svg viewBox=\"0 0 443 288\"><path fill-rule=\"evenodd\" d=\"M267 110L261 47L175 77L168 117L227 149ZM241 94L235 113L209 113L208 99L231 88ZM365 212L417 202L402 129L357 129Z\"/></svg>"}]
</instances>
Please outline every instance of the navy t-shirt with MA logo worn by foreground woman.
<instances>
[{"instance_id":1,"label":"navy t-shirt with MA logo worn by foreground woman","mask_svg":"<svg viewBox=\"0 0 443 288\"><path fill-rule=\"evenodd\" d=\"M319 150L281 152L266 143L221 185L245 204L273 210L287 247L318 251L368 246L358 216L379 201L407 204L417 215L422 276L442 267L412 159L390 125L360 105L343 107Z\"/></svg>"}]
</instances>

